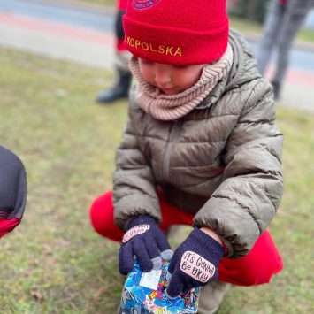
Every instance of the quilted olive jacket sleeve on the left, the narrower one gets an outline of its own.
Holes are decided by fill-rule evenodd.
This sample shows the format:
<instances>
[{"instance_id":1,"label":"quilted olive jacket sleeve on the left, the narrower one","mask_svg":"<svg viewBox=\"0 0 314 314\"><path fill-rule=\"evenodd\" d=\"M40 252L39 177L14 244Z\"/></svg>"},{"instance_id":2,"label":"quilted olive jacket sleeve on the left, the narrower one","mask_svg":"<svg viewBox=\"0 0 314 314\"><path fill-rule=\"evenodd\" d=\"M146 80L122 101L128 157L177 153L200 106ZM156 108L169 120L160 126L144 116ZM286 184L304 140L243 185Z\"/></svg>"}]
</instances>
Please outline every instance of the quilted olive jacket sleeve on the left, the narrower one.
<instances>
[{"instance_id":1,"label":"quilted olive jacket sleeve on the left, the narrower one","mask_svg":"<svg viewBox=\"0 0 314 314\"><path fill-rule=\"evenodd\" d=\"M136 109L134 109L136 111ZM115 223L125 229L130 218L149 215L161 220L156 193L156 182L149 160L137 145L137 136L132 122L132 108L123 140L116 154L116 169L113 172L113 205Z\"/></svg>"}]
</instances>

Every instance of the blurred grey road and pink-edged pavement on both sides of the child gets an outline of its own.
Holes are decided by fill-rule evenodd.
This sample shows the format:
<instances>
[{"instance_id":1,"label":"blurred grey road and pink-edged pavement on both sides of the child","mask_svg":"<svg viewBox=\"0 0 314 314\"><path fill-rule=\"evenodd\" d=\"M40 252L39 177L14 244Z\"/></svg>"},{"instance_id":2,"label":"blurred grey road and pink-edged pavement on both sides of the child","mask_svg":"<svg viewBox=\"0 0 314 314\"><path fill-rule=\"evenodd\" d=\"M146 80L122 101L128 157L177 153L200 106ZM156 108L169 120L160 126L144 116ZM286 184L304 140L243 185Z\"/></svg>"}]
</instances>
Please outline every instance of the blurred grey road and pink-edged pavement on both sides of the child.
<instances>
[{"instance_id":1,"label":"blurred grey road and pink-edged pavement on both sides of the child","mask_svg":"<svg viewBox=\"0 0 314 314\"><path fill-rule=\"evenodd\" d=\"M71 0L0 0L0 45L112 69L114 14L103 6ZM248 39L257 50L257 38ZM311 47L292 50L281 103L314 111Z\"/></svg>"}]
</instances>

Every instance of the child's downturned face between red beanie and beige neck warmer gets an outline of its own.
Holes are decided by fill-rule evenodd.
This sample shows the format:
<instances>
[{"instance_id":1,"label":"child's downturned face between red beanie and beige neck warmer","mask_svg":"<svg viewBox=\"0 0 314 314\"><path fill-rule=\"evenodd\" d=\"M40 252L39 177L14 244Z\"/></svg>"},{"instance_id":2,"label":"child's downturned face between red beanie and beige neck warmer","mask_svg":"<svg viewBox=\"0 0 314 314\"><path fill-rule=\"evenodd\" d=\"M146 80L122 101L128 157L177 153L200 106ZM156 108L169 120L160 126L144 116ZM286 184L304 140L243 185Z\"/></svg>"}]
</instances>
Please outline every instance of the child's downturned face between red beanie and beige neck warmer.
<instances>
[{"instance_id":1,"label":"child's downturned face between red beanie and beige neck warmer","mask_svg":"<svg viewBox=\"0 0 314 314\"><path fill-rule=\"evenodd\" d=\"M145 80L167 95L191 88L200 79L205 65L164 65L139 58L140 71Z\"/></svg>"}]
</instances>

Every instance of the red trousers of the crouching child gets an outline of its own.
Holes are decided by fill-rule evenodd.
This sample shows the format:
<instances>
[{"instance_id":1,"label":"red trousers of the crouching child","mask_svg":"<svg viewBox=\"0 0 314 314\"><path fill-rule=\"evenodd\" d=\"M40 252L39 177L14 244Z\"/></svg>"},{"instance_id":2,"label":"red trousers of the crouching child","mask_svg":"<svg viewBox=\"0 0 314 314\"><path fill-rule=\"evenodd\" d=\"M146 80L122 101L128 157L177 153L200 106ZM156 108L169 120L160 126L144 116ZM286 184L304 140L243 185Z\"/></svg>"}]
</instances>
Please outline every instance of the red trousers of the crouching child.
<instances>
[{"instance_id":1,"label":"red trousers of the crouching child","mask_svg":"<svg viewBox=\"0 0 314 314\"><path fill-rule=\"evenodd\" d=\"M162 211L162 230L172 225L192 226L193 214L180 211L172 204L166 203L159 195ZM112 194L107 192L96 198L90 208L91 224L98 234L113 241L121 241L124 232L114 225ZM272 276L282 270L282 260L271 234L265 230L255 242L249 254L241 258L224 257L219 264L218 280L238 286L256 286L268 283Z\"/></svg>"}]
</instances>

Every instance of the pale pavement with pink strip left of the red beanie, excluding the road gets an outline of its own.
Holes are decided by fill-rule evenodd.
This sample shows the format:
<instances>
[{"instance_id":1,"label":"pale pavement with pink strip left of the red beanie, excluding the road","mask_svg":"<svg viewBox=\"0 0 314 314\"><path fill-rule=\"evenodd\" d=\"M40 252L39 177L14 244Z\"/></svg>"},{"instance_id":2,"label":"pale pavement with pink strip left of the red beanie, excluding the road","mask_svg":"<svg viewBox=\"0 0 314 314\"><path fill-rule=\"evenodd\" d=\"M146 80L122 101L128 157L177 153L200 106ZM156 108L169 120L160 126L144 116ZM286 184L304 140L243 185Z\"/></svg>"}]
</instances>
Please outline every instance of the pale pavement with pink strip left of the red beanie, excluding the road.
<instances>
[{"instance_id":1,"label":"pale pavement with pink strip left of the red beanie, excluding the road","mask_svg":"<svg viewBox=\"0 0 314 314\"><path fill-rule=\"evenodd\" d=\"M0 11L0 45L112 68L111 33Z\"/></svg>"}]
</instances>

